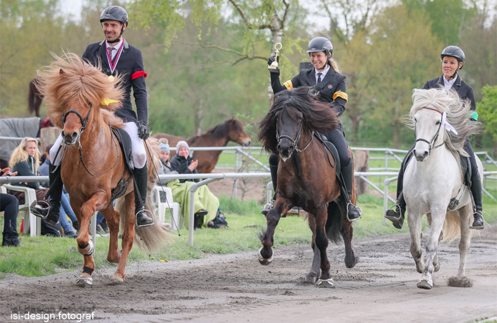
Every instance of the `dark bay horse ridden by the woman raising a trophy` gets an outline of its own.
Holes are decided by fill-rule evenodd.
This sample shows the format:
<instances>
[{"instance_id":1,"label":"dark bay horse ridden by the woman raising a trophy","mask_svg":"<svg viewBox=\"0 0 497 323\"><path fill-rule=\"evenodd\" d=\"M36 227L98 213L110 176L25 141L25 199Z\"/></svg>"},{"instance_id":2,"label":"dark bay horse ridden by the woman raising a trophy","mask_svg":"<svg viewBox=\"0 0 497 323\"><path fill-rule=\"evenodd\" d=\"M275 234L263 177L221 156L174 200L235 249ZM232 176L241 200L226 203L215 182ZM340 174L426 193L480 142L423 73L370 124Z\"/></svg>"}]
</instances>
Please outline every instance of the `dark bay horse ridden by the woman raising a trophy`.
<instances>
[{"instance_id":1,"label":"dark bay horse ridden by the woman raising a trophy","mask_svg":"<svg viewBox=\"0 0 497 323\"><path fill-rule=\"evenodd\" d=\"M324 145L314 138L319 132L334 129L338 117L328 105L317 101L310 89L298 87L277 93L259 125L257 138L264 149L280 157L275 204L266 215L267 229L261 237L259 262L267 265L272 261L273 235L280 217L293 206L299 206L308 212L314 250L306 282L333 287L326 254L328 239L337 243L341 234L347 268L352 268L357 258L352 250L353 229L346 216L346 201L340 195L340 183L331 166L335 163L331 154L329 160ZM349 156L352 157L350 148ZM355 188L351 202L355 204Z\"/></svg>"}]
</instances>

